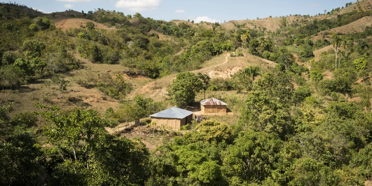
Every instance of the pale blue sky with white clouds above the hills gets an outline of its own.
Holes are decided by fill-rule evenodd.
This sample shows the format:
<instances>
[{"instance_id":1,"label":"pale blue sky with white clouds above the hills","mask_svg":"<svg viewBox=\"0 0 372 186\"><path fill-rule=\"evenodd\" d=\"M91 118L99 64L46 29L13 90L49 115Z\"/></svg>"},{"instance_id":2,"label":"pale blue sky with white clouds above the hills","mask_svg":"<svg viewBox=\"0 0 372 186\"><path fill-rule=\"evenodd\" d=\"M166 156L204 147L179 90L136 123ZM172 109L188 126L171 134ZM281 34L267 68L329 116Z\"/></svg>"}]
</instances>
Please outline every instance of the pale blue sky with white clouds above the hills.
<instances>
[{"instance_id":1,"label":"pale blue sky with white clouds above the hills","mask_svg":"<svg viewBox=\"0 0 372 186\"><path fill-rule=\"evenodd\" d=\"M352 2L354 2L353 0ZM195 22L224 22L224 20L256 19L256 17L315 15L324 10L345 6L344 0L18 0L44 12L73 9L88 12L95 8L116 10L159 20L195 20ZM350 1L349 1L350 2Z\"/></svg>"}]
</instances>

